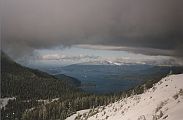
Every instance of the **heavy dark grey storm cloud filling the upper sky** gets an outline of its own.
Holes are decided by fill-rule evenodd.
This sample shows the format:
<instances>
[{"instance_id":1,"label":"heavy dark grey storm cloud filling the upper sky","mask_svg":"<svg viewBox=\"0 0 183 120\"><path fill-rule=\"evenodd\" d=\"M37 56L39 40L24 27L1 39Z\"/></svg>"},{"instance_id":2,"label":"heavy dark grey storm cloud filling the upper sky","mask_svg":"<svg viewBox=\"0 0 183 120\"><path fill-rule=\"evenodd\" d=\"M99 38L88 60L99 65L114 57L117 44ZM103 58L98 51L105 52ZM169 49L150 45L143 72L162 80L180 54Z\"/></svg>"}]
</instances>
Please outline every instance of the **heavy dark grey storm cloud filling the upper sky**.
<instances>
[{"instance_id":1,"label":"heavy dark grey storm cloud filling the upper sky","mask_svg":"<svg viewBox=\"0 0 183 120\"><path fill-rule=\"evenodd\" d=\"M2 0L1 10L3 49L14 56L76 44L183 55L181 0Z\"/></svg>"}]
</instances>

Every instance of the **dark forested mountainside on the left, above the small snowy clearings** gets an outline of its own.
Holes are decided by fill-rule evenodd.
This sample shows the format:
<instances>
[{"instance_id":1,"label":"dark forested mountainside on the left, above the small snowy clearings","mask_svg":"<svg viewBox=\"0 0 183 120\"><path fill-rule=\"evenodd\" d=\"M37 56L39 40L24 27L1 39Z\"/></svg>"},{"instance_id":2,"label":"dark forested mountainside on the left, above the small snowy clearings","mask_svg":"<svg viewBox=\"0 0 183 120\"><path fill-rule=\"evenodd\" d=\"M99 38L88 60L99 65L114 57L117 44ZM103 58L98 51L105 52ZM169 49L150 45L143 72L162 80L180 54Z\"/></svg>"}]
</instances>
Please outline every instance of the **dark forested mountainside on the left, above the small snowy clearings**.
<instances>
[{"instance_id":1,"label":"dark forested mountainside on the left, above the small snowy clearings","mask_svg":"<svg viewBox=\"0 0 183 120\"><path fill-rule=\"evenodd\" d=\"M1 75L1 97L46 99L75 91L72 87L74 84L69 84L75 80L74 78L63 75L57 79L39 70L26 68L3 52L1 52Z\"/></svg>"}]
</instances>

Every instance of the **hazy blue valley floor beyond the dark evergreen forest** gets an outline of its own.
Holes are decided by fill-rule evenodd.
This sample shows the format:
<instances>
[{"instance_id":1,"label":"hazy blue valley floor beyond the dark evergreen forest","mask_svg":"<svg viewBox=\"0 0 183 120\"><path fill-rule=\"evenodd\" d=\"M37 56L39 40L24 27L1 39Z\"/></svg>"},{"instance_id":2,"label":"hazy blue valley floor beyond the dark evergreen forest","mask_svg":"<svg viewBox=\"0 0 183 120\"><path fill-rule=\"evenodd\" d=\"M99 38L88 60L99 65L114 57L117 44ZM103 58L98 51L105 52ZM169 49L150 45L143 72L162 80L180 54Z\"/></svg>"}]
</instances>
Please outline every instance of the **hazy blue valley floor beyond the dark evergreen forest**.
<instances>
[{"instance_id":1,"label":"hazy blue valley floor beyond the dark evergreen forest","mask_svg":"<svg viewBox=\"0 0 183 120\"><path fill-rule=\"evenodd\" d=\"M179 70L179 71L178 71ZM72 76L81 81L81 88L89 93L107 94L129 90L148 80L161 79L170 72L183 71L182 67L144 64L74 64L47 70L55 76Z\"/></svg>"}]
</instances>

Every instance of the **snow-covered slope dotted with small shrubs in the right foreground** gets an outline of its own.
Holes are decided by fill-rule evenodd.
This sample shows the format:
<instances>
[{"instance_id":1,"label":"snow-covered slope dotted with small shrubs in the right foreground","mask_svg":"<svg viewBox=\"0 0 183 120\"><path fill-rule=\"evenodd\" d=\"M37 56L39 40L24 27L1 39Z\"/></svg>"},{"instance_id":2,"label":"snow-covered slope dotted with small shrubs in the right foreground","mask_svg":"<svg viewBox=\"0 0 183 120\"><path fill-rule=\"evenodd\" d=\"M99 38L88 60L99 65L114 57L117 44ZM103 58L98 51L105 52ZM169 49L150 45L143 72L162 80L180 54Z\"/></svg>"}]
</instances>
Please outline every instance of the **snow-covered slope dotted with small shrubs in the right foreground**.
<instances>
[{"instance_id":1,"label":"snow-covered slope dotted with small shrubs in the right foreground","mask_svg":"<svg viewBox=\"0 0 183 120\"><path fill-rule=\"evenodd\" d=\"M165 77L143 94L82 112L74 116L87 120L183 120L183 74Z\"/></svg>"}]
</instances>

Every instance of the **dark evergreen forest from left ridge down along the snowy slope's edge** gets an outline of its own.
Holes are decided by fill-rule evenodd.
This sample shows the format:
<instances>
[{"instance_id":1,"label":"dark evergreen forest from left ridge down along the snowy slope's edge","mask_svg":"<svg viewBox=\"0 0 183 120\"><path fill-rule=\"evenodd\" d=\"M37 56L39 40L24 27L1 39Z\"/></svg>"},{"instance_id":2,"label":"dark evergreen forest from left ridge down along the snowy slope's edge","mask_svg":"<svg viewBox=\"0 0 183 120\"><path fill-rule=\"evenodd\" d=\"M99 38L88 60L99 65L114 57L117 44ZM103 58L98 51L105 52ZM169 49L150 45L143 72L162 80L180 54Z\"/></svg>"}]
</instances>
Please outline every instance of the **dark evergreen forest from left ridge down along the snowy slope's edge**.
<instances>
[{"instance_id":1,"label":"dark evergreen forest from left ridge down along the snowy slope's edge","mask_svg":"<svg viewBox=\"0 0 183 120\"><path fill-rule=\"evenodd\" d=\"M65 75L51 76L26 68L1 52L1 97L15 97L1 109L3 120L64 120L78 110L113 103L131 94L140 94L166 74L159 73L144 85L116 94L85 93L79 81Z\"/></svg>"}]
</instances>

